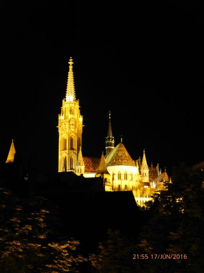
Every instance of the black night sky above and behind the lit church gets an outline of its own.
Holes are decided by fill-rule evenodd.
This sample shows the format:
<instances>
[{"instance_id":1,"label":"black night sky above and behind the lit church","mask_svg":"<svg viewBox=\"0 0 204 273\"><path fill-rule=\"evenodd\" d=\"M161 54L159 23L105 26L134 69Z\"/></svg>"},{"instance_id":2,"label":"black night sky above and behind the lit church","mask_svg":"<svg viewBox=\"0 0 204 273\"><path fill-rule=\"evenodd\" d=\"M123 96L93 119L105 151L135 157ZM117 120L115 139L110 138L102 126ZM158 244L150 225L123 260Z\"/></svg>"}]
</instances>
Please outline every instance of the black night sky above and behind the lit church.
<instances>
[{"instance_id":1,"label":"black night sky above and behind the lit church","mask_svg":"<svg viewBox=\"0 0 204 273\"><path fill-rule=\"evenodd\" d=\"M38 170L57 170L58 114L74 61L83 156L116 144L171 172L204 160L204 14L195 3L1 5L1 162L11 139Z\"/></svg>"}]
</instances>

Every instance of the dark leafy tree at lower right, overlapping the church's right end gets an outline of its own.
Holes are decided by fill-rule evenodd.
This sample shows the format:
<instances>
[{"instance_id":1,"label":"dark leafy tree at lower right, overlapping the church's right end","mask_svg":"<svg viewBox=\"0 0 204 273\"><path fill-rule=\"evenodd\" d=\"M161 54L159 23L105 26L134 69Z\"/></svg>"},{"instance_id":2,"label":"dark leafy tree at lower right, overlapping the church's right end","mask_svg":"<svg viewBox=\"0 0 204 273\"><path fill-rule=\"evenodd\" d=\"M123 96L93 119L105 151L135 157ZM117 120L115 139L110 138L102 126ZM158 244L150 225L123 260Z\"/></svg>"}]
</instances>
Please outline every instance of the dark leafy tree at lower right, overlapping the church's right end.
<instances>
[{"instance_id":1,"label":"dark leafy tree at lower right, overlapping the church's right end","mask_svg":"<svg viewBox=\"0 0 204 273\"><path fill-rule=\"evenodd\" d=\"M152 217L140 234L148 254L186 254L186 259L149 260L147 272L203 272L204 172L180 166L168 190L155 193Z\"/></svg>"}]
</instances>

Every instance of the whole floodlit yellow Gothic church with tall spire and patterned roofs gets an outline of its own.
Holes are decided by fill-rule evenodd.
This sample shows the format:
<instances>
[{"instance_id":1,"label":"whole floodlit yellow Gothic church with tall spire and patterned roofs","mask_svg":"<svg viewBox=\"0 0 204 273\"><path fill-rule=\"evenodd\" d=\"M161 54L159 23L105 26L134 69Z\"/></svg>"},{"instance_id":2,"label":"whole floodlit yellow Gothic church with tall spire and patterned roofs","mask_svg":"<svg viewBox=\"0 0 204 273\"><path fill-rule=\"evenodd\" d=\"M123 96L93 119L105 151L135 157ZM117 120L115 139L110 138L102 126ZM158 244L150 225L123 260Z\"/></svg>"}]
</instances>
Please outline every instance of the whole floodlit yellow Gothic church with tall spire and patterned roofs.
<instances>
[{"instance_id":1,"label":"whole floodlit yellow Gothic church with tall spire and patterned roofs","mask_svg":"<svg viewBox=\"0 0 204 273\"><path fill-rule=\"evenodd\" d=\"M164 181L169 181L166 170L159 166L149 167L143 152L142 161L133 160L124 144L115 146L109 112L106 154L101 158L83 157L82 130L83 116L79 110L79 100L75 96L73 59L70 58L66 88L66 98L62 101L59 115L59 160L58 172L72 171L84 177L99 177L104 181L106 191L132 190L138 204L144 204L155 190L164 190Z\"/></svg>"}]
</instances>

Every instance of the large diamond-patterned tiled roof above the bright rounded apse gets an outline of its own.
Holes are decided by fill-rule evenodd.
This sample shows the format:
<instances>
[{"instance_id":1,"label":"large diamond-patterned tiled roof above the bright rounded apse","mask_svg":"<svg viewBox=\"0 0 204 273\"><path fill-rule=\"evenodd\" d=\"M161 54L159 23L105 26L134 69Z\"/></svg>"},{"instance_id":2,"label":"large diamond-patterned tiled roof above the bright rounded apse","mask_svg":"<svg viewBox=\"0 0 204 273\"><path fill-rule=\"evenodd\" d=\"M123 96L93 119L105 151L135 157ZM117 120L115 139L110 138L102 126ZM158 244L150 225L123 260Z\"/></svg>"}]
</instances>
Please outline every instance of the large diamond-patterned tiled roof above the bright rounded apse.
<instances>
[{"instance_id":1,"label":"large diamond-patterned tiled roof above the bright rounded apse","mask_svg":"<svg viewBox=\"0 0 204 273\"><path fill-rule=\"evenodd\" d=\"M119 143L106 157L107 166L111 165L129 165L134 166L135 163L131 159L128 151L125 149L123 143Z\"/></svg>"}]
</instances>

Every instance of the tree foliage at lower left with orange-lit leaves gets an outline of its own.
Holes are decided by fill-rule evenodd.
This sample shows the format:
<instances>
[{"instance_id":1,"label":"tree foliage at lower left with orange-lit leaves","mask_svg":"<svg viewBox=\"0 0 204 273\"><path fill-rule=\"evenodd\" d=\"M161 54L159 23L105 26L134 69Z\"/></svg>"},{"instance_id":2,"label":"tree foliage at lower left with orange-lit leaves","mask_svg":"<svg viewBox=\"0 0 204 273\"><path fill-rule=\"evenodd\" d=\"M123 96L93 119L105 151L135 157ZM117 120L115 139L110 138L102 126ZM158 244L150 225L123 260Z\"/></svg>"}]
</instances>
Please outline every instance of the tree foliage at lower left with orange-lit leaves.
<instances>
[{"instance_id":1,"label":"tree foliage at lower left with orange-lit leaves","mask_svg":"<svg viewBox=\"0 0 204 273\"><path fill-rule=\"evenodd\" d=\"M20 200L1 189L0 214L1 272L77 272L79 241L60 238L57 208L46 199Z\"/></svg>"}]
</instances>

